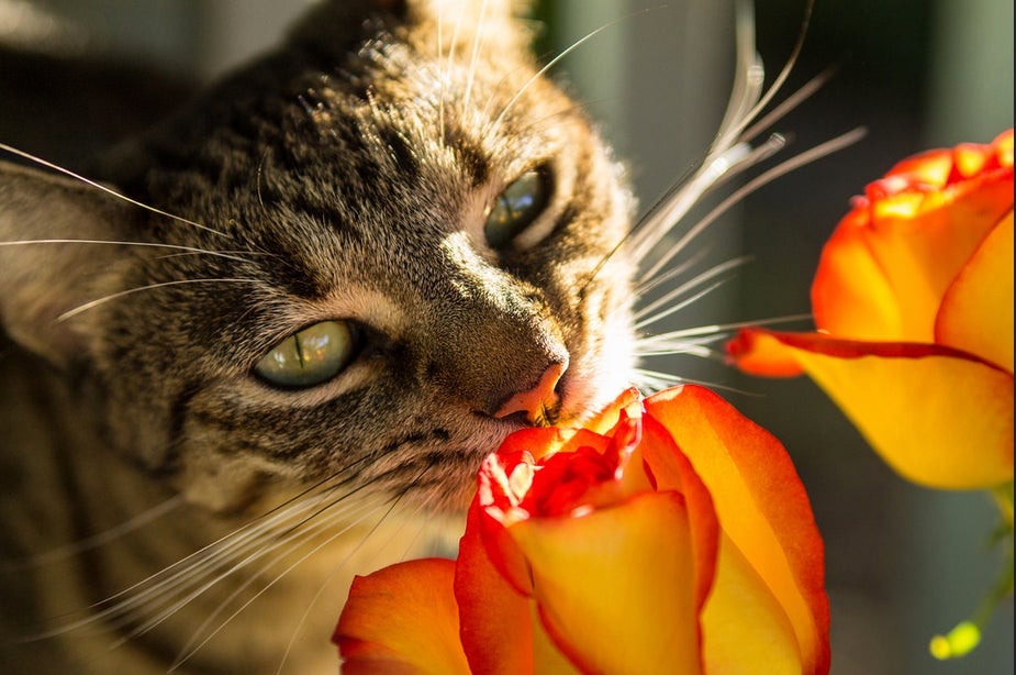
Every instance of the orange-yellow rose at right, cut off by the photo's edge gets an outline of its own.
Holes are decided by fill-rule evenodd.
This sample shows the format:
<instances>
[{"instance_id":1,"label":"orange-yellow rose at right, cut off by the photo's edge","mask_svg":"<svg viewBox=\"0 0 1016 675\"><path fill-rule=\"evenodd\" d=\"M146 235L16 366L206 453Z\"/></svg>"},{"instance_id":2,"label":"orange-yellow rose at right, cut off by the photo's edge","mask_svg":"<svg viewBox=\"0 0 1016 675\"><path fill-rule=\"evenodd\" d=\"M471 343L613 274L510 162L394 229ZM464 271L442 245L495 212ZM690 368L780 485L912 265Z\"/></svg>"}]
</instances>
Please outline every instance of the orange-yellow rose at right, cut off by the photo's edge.
<instances>
[{"instance_id":1,"label":"orange-yellow rose at right, cut off by the photo's edge","mask_svg":"<svg viewBox=\"0 0 1016 675\"><path fill-rule=\"evenodd\" d=\"M744 330L749 373L806 372L900 474L1013 479L1013 132L896 165L825 246L817 332Z\"/></svg>"}]
</instances>

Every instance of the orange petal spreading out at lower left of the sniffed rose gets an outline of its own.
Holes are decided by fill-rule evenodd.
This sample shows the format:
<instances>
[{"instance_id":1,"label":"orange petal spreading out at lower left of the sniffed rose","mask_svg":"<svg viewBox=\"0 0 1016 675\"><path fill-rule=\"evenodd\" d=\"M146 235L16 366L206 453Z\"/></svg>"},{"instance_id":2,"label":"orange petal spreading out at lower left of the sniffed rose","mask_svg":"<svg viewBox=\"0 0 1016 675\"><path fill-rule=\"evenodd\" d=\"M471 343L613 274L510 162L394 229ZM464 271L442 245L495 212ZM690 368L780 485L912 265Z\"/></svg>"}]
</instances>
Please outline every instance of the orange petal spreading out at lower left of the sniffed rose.
<instances>
[{"instance_id":1,"label":"orange petal spreading out at lower left of the sniffed rose","mask_svg":"<svg viewBox=\"0 0 1016 675\"><path fill-rule=\"evenodd\" d=\"M356 577L332 638L343 673L468 674L454 576L453 561L427 558Z\"/></svg>"}]
</instances>

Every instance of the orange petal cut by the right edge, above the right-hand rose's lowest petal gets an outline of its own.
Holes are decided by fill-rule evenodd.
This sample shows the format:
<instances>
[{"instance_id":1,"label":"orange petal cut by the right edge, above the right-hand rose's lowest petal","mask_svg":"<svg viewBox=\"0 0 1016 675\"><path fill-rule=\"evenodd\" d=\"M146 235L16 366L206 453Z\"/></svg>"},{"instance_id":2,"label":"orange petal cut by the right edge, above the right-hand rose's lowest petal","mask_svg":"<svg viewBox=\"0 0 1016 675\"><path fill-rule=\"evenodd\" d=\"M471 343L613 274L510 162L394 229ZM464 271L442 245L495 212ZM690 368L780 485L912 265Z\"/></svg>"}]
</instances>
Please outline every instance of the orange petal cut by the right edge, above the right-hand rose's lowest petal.
<instances>
[{"instance_id":1,"label":"orange petal cut by the right edge, above the right-hand rose's lowest petal","mask_svg":"<svg viewBox=\"0 0 1016 675\"><path fill-rule=\"evenodd\" d=\"M1013 212L987 235L942 299L936 342L1013 372Z\"/></svg>"}]
</instances>

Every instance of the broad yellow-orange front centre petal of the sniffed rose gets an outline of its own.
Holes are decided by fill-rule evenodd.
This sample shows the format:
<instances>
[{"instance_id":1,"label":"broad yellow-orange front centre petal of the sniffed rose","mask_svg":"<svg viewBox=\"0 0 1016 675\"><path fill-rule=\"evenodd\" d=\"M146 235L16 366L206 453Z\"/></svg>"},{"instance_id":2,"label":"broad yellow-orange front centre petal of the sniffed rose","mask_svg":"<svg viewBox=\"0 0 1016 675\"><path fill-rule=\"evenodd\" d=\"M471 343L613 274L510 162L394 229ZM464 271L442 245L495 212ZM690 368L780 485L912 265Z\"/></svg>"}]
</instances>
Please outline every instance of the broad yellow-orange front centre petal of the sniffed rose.
<instances>
[{"instance_id":1,"label":"broad yellow-orange front centre petal of the sniffed rose","mask_svg":"<svg viewBox=\"0 0 1016 675\"><path fill-rule=\"evenodd\" d=\"M579 518L510 529L540 617L584 672L697 673L692 534L677 493L647 493Z\"/></svg>"}]
</instances>

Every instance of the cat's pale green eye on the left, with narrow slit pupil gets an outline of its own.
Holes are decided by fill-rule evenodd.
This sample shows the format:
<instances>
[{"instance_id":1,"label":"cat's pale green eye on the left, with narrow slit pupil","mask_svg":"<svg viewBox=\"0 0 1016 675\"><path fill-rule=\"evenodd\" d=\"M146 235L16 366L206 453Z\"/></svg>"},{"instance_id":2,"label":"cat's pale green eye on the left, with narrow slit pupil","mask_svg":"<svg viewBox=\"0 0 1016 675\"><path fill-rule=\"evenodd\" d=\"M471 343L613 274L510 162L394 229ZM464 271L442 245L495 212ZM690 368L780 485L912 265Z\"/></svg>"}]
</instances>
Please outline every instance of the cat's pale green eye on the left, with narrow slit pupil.
<instances>
[{"instance_id":1,"label":"cat's pale green eye on the left, with narrow slit pupil","mask_svg":"<svg viewBox=\"0 0 1016 675\"><path fill-rule=\"evenodd\" d=\"M338 375L353 357L354 347L355 336L348 323L322 321L277 344L254 372L276 387L313 387Z\"/></svg>"}]
</instances>

